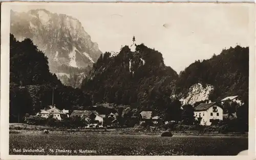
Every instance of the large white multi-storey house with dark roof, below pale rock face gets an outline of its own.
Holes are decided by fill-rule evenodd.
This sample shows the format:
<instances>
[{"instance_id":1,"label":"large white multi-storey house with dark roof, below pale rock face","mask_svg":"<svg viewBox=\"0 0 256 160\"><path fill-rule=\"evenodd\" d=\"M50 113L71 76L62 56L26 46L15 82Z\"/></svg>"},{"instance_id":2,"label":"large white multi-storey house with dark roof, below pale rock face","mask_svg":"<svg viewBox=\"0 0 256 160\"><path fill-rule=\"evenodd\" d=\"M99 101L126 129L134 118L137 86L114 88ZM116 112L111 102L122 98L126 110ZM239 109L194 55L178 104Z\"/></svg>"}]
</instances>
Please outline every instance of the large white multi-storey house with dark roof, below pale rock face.
<instances>
[{"instance_id":1,"label":"large white multi-storey house with dark roof, below pale rock face","mask_svg":"<svg viewBox=\"0 0 256 160\"><path fill-rule=\"evenodd\" d=\"M223 109L216 102L201 103L196 106L194 116L196 120L200 121L201 125L211 125L212 119L223 120Z\"/></svg>"}]
</instances>

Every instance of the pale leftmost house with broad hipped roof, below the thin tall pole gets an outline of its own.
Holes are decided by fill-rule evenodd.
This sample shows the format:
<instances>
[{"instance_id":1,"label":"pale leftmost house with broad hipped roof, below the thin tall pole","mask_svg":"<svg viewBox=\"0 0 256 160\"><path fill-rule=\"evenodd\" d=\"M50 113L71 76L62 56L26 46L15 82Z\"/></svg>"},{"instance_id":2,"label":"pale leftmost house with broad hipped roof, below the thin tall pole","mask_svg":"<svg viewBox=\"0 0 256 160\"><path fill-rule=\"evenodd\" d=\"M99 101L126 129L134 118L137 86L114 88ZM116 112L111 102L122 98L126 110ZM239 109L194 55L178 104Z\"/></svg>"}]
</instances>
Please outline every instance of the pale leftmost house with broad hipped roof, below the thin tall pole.
<instances>
[{"instance_id":1,"label":"pale leftmost house with broad hipped roof, below the thin tall pole","mask_svg":"<svg viewBox=\"0 0 256 160\"><path fill-rule=\"evenodd\" d=\"M53 118L58 120L62 120L63 118L68 117L68 114L63 113L61 110L57 109L55 105L50 105L49 107L49 110L41 110L41 112L37 113L36 116L48 118L50 115L53 115Z\"/></svg>"}]
</instances>

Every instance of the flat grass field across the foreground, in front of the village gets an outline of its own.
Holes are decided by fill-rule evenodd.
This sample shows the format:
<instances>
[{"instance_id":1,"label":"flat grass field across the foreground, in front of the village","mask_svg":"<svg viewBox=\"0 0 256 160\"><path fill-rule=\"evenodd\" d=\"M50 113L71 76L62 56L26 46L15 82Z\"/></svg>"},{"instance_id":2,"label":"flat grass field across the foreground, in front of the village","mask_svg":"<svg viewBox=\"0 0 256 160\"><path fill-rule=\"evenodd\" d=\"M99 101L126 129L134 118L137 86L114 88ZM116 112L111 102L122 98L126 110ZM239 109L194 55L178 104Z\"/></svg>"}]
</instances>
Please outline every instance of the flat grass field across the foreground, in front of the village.
<instances>
[{"instance_id":1,"label":"flat grass field across the foreground, in front of the village","mask_svg":"<svg viewBox=\"0 0 256 160\"><path fill-rule=\"evenodd\" d=\"M13 149L45 149L45 152L13 152ZM131 136L103 135L93 132L13 131L10 133L10 154L25 155L237 155L248 149L247 137L203 136ZM72 153L50 152L56 149ZM79 153L95 150L96 153ZM73 150L77 150L74 153Z\"/></svg>"}]
</instances>

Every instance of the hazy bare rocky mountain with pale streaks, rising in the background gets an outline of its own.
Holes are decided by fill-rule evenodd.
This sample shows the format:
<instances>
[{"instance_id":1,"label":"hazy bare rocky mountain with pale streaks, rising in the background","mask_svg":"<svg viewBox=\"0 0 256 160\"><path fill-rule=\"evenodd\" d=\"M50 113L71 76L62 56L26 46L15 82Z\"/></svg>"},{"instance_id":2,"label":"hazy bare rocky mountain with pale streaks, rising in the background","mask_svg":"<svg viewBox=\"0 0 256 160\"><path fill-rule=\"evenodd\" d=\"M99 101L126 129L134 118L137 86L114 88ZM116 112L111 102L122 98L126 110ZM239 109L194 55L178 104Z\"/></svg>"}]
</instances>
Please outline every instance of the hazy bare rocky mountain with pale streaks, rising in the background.
<instances>
[{"instance_id":1,"label":"hazy bare rocky mountain with pale streaks, rising in the background","mask_svg":"<svg viewBox=\"0 0 256 160\"><path fill-rule=\"evenodd\" d=\"M66 65L80 74L84 70L89 70L102 54L98 44L92 42L91 36L84 31L81 22L72 16L51 13L45 9L28 12L11 10L10 23L10 32L17 40L30 38L38 49L45 52L52 73L58 73L61 70L60 73L72 74L73 72L61 67ZM58 78L65 84L61 76ZM67 83L66 85L72 86Z\"/></svg>"}]
</instances>

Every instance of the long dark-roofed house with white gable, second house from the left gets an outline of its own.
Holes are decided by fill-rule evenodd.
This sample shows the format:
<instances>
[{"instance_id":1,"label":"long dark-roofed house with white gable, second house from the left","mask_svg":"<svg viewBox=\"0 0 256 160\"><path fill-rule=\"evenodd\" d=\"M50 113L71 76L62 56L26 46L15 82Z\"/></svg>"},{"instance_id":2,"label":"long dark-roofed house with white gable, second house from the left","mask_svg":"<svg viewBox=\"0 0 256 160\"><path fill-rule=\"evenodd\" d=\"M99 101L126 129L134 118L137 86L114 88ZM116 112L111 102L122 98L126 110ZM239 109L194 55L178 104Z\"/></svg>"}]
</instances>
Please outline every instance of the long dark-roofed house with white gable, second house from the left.
<instances>
[{"instance_id":1,"label":"long dark-roofed house with white gable, second house from the left","mask_svg":"<svg viewBox=\"0 0 256 160\"><path fill-rule=\"evenodd\" d=\"M70 117L72 118L75 116L78 116L88 122L93 121L92 123L84 127L103 127L103 118L105 117L105 115L99 115L96 111L73 111Z\"/></svg>"}]
</instances>

